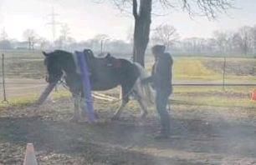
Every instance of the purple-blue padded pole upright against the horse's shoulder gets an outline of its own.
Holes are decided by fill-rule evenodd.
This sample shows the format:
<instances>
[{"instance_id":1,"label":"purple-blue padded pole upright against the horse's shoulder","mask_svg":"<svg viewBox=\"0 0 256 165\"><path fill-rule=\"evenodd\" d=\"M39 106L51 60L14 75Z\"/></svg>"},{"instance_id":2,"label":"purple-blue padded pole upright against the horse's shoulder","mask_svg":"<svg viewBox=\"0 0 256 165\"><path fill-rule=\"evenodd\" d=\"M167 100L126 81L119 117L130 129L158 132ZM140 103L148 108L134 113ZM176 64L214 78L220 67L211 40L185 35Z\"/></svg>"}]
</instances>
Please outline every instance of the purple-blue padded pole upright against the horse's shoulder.
<instances>
[{"instance_id":1,"label":"purple-blue padded pole upright against the horse's shoulder","mask_svg":"<svg viewBox=\"0 0 256 165\"><path fill-rule=\"evenodd\" d=\"M84 52L76 51L75 54L77 57L77 64L82 77L85 104L87 105L87 114L89 117L89 122L95 122L94 103L93 98L91 96L90 73L86 62L86 58L84 57ZM86 111L85 107L84 111Z\"/></svg>"}]
</instances>

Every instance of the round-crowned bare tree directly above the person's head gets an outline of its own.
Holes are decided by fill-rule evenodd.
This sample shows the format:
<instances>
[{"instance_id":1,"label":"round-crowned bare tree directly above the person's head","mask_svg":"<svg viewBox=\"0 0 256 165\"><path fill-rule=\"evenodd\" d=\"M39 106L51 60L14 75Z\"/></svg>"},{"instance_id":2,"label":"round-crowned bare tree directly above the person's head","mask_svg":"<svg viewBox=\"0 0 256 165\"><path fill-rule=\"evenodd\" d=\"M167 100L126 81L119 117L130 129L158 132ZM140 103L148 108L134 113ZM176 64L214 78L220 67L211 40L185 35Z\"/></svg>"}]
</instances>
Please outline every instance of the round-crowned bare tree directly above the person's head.
<instances>
[{"instance_id":1,"label":"round-crowned bare tree directly above the person's head","mask_svg":"<svg viewBox=\"0 0 256 165\"><path fill-rule=\"evenodd\" d=\"M179 34L177 33L177 29L168 24L156 27L152 36L154 42L160 42L165 45L166 48L170 47L174 42L177 42L178 38Z\"/></svg>"}]
</instances>

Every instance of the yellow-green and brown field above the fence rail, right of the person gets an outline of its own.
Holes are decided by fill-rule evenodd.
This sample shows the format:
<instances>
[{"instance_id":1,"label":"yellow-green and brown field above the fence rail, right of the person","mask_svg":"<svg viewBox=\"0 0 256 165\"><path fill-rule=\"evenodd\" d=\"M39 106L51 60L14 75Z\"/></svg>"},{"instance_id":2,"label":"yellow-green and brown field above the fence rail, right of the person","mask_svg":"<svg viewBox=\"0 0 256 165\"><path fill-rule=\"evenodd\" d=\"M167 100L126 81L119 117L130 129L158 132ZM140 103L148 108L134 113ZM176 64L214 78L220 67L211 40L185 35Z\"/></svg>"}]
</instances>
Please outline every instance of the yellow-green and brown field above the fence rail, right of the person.
<instances>
[{"instance_id":1,"label":"yellow-green and brown field above the fence rail, right of the person","mask_svg":"<svg viewBox=\"0 0 256 165\"><path fill-rule=\"evenodd\" d=\"M209 65L212 63L212 65ZM218 63L218 65L216 64ZM228 59L225 79L229 82L254 82L256 59ZM243 66L246 66L244 68ZM233 69L235 68L235 69ZM233 69L233 70L232 70ZM223 80L223 59L209 57L181 57L174 62L174 80ZM252 72L253 71L253 72ZM243 74L240 74L243 72Z\"/></svg>"}]
</instances>

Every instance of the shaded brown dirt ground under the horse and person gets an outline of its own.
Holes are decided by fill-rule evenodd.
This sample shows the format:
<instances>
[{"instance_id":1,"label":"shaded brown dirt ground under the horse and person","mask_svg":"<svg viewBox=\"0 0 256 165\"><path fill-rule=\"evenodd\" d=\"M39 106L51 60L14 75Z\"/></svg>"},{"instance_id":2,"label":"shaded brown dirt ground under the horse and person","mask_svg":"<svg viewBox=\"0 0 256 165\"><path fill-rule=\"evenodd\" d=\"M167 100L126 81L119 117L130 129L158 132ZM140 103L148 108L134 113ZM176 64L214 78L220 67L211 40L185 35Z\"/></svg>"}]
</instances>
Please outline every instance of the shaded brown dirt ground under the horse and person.
<instances>
[{"instance_id":1,"label":"shaded brown dirt ground under the horse and person","mask_svg":"<svg viewBox=\"0 0 256 165\"><path fill-rule=\"evenodd\" d=\"M155 140L156 114L141 122L131 103L120 121L117 105L95 105L100 122L69 122L69 99L0 112L0 164L22 164L33 143L39 164L256 164L255 109L172 105L172 136ZM129 110L129 111L128 111Z\"/></svg>"}]
</instances>

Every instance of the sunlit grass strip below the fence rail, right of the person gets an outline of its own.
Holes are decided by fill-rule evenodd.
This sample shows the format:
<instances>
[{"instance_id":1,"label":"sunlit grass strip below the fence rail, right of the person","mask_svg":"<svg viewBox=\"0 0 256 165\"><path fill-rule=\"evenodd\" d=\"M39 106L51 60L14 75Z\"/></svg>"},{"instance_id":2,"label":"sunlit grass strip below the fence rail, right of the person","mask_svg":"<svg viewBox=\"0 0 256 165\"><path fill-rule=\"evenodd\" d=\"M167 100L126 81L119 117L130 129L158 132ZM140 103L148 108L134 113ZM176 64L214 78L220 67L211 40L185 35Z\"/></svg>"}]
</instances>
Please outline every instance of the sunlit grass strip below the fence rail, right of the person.
<instances>
[{"instance_id":1,"label":"sunlit grass strip below the fence rail, right of the person","mask_svg":"<svg viewBox=\"0 0 256 165\"><path fill-rule=\"evenodd\" d=\"M174 101L181 104L213 107L255 108L250 100L255 87L174 87Z\"/></svg>"}]
</instances>

